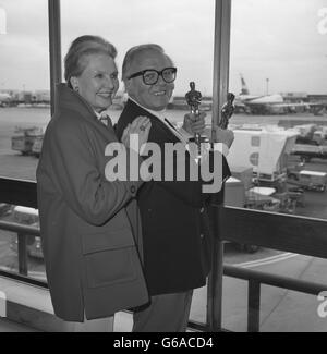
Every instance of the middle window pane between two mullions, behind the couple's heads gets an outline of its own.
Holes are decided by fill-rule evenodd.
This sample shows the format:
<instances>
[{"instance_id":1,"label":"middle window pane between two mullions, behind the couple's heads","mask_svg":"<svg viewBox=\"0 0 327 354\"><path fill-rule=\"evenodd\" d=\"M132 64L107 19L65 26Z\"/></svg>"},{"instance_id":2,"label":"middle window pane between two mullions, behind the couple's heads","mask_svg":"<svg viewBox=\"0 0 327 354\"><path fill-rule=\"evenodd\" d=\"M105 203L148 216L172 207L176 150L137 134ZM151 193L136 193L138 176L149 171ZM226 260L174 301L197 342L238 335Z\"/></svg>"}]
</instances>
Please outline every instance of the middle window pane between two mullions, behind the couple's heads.
<instances>
[{"instance_id":1,"label":"middle window pane between two mullions, behind the couple's heads","mask_svg":"<svg viewBox=\"0 0 327 354\"><path fill-rule=\"evenodd\" d=\"M189 107L185 94L190 82L203 95L202 108L207 110L207 122L211 120L213 58L215 1L206 0L65 0L62 8L63 56L77 36L100 35L118 49L118 68L125 52L141 44L158 44L171 57L178 68L173 100L169 106L169 119L181 124ZM72 16L72 9L74 16ZM121 84L120 90L123 91ZM111 118L118 120L122 101L118 95ZM125 97L123 97L125 99ZM205 321L206 289L194 296L192 319Z\"/></svg>"}]
</instances>

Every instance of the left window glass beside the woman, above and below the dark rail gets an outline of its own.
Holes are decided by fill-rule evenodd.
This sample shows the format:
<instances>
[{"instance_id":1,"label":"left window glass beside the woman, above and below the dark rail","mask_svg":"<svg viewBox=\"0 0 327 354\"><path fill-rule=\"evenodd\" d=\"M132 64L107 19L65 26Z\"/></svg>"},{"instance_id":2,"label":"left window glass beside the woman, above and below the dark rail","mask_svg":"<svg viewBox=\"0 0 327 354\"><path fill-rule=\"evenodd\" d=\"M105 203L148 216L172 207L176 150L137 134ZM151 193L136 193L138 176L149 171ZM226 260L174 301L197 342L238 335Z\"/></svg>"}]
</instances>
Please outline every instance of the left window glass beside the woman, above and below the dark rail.
<instances>
[{"instance_id":1,"label":"left window glass beside the woman, above and below the dark rail","mask_svg":"<svg viewBox=\"0 0 327 354\"><path fill-rule=\"evenodd\" d=\"M47 5L44 0L0 1L0 178L36 180L50 119ZM28 208L22 212L2 202L0 196L0 221L38 228ZM17 234L0 230L0 269L19 272ZM26 242L28 276L44 280L39 237L27 235Z\"/></svg>"}]
</instances>

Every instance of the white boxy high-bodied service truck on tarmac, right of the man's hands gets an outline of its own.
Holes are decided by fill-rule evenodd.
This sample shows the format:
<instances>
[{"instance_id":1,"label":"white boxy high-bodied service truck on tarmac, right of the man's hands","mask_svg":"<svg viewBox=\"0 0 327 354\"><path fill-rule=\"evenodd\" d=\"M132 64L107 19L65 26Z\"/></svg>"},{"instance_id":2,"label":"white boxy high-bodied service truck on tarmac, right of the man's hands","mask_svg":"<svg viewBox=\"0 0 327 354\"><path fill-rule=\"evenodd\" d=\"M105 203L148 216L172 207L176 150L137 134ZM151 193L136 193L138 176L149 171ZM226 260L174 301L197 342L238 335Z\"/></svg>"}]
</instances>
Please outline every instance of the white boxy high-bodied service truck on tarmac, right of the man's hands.
<instances>
[{"instance_id":1,"label":"white boxy high-bodied service truck on tarmac, right of the man's hands","mask_svg":"<svg viewBox=\"0 0 327 354\"><path fill-rule=\"evenodd\" d=\"M247 207L284 213L294 213L298 205L304 207L304 191L287 185L289 156L299 133L274 126L244 126L233 132L235 139L228 155L231 171L235 166L252 168L258 187L246 188ZM274 195L263 193L263 187L275 188Z\"/></svg>"}]
</instances>

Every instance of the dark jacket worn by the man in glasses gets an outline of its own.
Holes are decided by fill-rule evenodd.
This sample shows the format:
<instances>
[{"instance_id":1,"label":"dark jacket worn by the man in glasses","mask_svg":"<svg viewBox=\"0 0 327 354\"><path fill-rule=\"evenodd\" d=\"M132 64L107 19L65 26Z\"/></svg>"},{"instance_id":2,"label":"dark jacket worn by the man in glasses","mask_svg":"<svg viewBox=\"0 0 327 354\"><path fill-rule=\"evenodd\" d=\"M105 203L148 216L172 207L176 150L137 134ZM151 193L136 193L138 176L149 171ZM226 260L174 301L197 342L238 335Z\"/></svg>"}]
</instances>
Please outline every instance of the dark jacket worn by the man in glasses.
<instances>
[{"instance_id":1,"label":"dark jacket worn by the man in glasses","mask_svg":"<svg viewBox=\"0 0 327 354\"><path fill-rule=\"evenodd\" d=\"M158 118L129 100L117 125L121 138L135 118L148 117L152 129L148 142L179 143ZM164 154L162 154L164 155ZM190 155L186 154L186 158ZM186 163L187 166L187 163ZM230 173L223 158L225 176ZM150 295L184 292L205 285L211 265L211 232L207 196L202 182L145 183L138 191L144 272Z\"/></svg>"}]
</instances>

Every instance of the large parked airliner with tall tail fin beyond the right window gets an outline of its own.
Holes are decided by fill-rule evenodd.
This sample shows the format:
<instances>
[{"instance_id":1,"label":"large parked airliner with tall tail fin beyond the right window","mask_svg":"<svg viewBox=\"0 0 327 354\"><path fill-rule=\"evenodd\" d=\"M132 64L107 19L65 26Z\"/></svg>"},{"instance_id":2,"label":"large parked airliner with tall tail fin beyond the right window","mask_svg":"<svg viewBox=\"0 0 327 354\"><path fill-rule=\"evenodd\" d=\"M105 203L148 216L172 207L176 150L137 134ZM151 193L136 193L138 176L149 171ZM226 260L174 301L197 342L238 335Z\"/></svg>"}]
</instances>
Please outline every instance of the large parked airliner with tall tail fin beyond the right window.
<instances>
[{"instance_id":1,"label":"large parked airliner with tall tail fin beyond the right window","mask_svg":"<svg viewBox=\"0 0 327 354\"><path fill-rule=\"evenodd\" d=\"M283 114L296 112L298 110L307 110L318 115L327 102L286 102L280 94L253 96L246 86L244 77L241 75L242 90L235 99L235 109L250 114Z\"/></svg>"}]
</instances>

